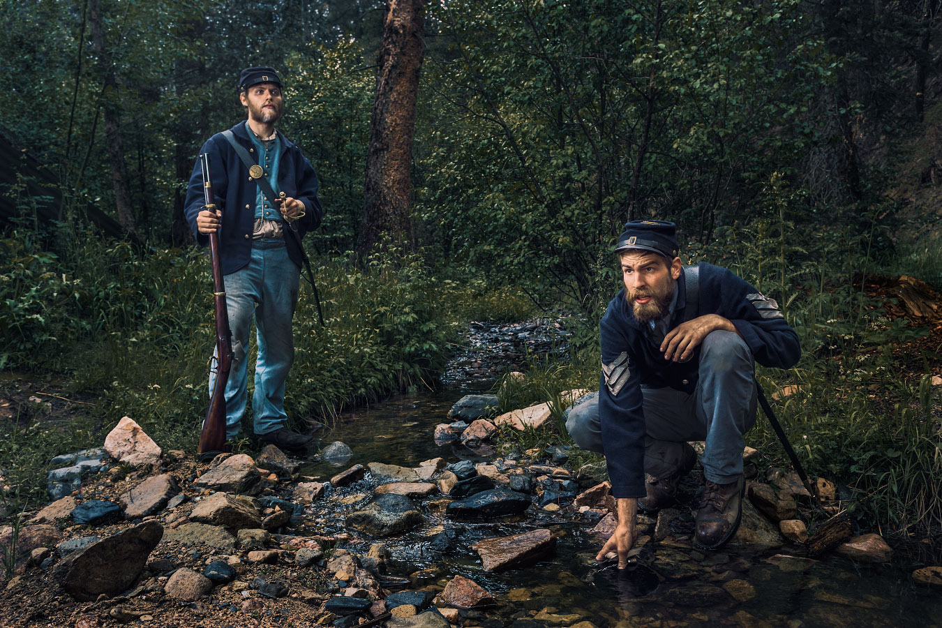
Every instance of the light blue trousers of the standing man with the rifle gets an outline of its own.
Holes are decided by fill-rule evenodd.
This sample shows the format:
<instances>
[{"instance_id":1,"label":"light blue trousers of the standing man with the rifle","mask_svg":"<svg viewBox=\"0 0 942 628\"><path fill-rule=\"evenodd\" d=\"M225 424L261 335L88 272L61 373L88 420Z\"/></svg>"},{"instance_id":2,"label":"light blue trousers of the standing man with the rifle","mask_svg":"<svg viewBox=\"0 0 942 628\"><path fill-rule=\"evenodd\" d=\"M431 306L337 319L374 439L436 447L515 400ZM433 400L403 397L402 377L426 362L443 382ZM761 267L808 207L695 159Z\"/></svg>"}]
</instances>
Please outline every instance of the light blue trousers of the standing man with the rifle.
<instances>
[{"instance_id":1,"label":"light blue trousers of the standing man with the rifle","mask_svg":"<svg viewBox=\"0 0 942 628\"><path fill-rule=\"evenodd\" d=\"M241 427L248 399L247 358L252 318L258 338L255 361L255 391L252 419L256 434L284 427L284 380L294 362L291 318L298 303L300 268L288 258L284 240L262 238L252 242L248 266L224 275L229 330L233 336L233 362L226 384L226 438L233 439ZM213 363L216 363L216 351ZM209 374L209 394L216 383L215 369Z\"/></svg>"}]
</instances>

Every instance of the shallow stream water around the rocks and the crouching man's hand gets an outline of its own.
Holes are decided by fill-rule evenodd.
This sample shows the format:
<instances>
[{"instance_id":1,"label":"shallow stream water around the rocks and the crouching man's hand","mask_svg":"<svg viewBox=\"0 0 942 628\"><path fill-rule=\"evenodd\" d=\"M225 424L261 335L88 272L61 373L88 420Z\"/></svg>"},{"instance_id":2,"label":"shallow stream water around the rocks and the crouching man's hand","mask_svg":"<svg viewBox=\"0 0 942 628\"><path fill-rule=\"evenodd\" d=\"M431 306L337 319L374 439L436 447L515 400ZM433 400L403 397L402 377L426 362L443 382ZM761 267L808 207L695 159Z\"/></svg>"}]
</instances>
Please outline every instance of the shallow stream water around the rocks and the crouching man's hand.
<instances>
[{"instance_id":1,"label":"shallow stream water around the rocks and the crouching man's hand","mask_svg":"<svg viewBox=\"0 0 942 628\"><path fill-rule=\"evenodd\" d=\"M324 439L349 444L354 458L341 467L317 462L302 473L327 478L357 462L416 466L439 456L455 462L456 451L450 445L437 447L432 431L447 422L457 399L477 392L465 382L349 412ZM339 508L337 515L334 532L343 529ZM470 549L478 539L538 527L558 537L556 553L527 568L483 572L479 556ZM429 511L423 528L382 542L394 556L392 570L410 577L413 587L441 585L461 573L491 591L497 605L465 620L465 625L482 628L573 626L585 620L596 628L942 627L942 596L914 585L911 568L901 565L860 564L842 556L811 560L788 545L759 553L732 546L701 553L689 540L669 537L648 545L637 563L619 572L596 565L600 540L589 535L592 527L565 508L550 513L531 507L526 517L471 524ZM457 547L445 555L430 552L428 541L448 528L460 534Z\"/></svg>"}]
</instances>

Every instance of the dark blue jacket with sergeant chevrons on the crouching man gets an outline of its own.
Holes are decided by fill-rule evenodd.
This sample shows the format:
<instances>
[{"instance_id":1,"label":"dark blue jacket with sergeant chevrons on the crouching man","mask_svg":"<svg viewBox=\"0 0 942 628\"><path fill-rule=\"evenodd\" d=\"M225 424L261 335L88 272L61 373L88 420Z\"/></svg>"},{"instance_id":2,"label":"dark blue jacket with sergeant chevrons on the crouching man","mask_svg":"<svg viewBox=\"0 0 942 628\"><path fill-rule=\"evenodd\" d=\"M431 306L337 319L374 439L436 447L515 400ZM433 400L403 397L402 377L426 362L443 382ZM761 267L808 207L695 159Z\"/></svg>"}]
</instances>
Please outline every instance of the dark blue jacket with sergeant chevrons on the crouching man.
<instances>
[{"instance_id":1,"label":"dark blue jacket with sergeant chevrons on the crouching man","mask_svg":"<svg viewBox=\"0 0 942 628\"><path fill-rule=\"evenodd\" d=\"M720 314L728 318L755 362L788 368L798 362L801 347L795 333L771 299L749 283L719 266L700 264L699 315ZM677 280L677 302L670 329L684 321L686 283ZM609 466L611 492L615 497L644 497L644 411L642 385L669 386L692 394L699 379L700 348L688 362L664 360L651 338L649 326L640 323L625 300L625 290L611 299L601 323L602 364L611 369L627 359L629 375L615 394L599 384L599 418L605 459ZM626 354L623 355L623 354Z\"/></svg>"}]
</instances>

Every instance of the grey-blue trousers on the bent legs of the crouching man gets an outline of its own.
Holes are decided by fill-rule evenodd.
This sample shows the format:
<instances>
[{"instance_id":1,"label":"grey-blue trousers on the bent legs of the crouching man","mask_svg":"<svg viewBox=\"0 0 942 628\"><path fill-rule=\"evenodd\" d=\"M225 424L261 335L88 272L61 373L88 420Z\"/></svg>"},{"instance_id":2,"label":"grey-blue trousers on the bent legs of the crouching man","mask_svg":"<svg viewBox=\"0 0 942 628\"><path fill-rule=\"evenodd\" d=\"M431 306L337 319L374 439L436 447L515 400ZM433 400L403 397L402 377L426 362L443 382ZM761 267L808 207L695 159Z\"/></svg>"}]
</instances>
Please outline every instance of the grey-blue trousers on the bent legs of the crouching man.
<instances>
[{"instance_id":1,"label":"grey-blue trousers on the bent legs of the crouching man","mask_svg":"<svg viewBox=\"0 0 942 628\"><path fill-rule=\"evenodd\" d=\"M755 364L738 334L713 331L700 349L700 379L692 395L642 386L644 471L671 473L685 441L706 441L700 457L711 482L727 484L742 474L743 435L755 425ZM583 449L604 454L598 393L583 395L566 411L566 428Z\"/></svg>"}]
</instances>

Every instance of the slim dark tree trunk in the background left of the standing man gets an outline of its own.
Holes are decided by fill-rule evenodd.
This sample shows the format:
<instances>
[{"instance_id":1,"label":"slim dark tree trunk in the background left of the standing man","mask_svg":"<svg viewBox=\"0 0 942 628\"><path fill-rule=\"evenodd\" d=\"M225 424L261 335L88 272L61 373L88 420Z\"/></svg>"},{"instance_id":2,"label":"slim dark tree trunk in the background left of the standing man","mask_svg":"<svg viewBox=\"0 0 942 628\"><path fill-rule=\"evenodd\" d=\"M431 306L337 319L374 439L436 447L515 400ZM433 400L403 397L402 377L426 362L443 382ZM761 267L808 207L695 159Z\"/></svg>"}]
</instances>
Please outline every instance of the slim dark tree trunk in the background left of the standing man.
<instances>
[{"instance_id":1,"label":"slim dark tree trunk in the background left of the standing man","mask_svg":"<svg viewBox=\"0 0 942 628\"><path fill-rule=\"evenodd\" d=\"M121 110L117 104L118 79L114 66L105 52L105 30L102 24L102 11L98 0L89 0L89 25L91 40L101 66L105 89L102 92L105 113L105 142L108 148L108 162L111 166L111 185L115 192L115 209L118 222L125 231L137 233L134 209L131 201L131 184L124 164L124 147L121 137Z\"/></svg>"}]
</instances>

